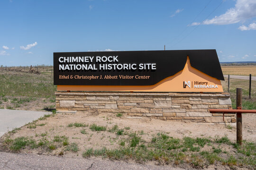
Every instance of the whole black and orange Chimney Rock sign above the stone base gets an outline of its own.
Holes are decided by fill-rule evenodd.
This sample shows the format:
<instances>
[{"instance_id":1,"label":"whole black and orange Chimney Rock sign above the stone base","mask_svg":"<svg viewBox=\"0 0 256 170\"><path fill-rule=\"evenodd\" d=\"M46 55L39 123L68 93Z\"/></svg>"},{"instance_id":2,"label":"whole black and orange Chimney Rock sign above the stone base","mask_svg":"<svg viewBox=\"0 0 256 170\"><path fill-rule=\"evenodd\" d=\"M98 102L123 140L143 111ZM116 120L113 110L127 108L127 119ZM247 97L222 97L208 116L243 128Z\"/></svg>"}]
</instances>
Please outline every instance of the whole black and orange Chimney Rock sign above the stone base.
<instances>
[{"instance_id":1,"label":"whole black and orange Chimney Rock sign above the stone base","mask_svg":"<svg viewBox=\"0 0 256 170\"><path fill-rule=\"evenodd\" d=\"M216 50L55 52L59 91L223 92Z\"/></svg>"}]
</instances>

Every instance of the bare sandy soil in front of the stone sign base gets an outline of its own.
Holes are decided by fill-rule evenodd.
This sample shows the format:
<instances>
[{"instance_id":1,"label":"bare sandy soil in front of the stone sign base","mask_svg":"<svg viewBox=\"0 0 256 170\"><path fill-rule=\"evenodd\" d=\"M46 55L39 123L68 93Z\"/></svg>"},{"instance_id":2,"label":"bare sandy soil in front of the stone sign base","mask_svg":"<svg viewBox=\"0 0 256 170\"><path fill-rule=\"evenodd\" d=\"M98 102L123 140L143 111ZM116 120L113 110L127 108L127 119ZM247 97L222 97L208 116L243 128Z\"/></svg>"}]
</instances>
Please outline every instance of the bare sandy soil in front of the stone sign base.
<instances>
[{"instance_id":1,"label":"bare sandy soil in front of the stone sign base","mask_svg":"<svg viewBox=\"0 0 256 170\"><path fill-rule=\"evenodd\" d=\"M89 127L68 127L70 123L75 122L88 124L89 126L93 123L98 126L106 126L107 131L91 131ZM243 114L243 139L256 141L255 122L256 114ZM128 134L136 131L146 142L150 142L152 136L156 135L158 132L165 132L168 136L177 138L182 138L184 136L228 136L233 142L236 140L235 124L231 125L233 126L232 129L228 129L225 124L164 121L146 117L129 118L127 115L118 118L115 114L105 113L99 115L90 115L88 113L57 113L46 120L38 120L36 124L36 128L27 128L27 125L21 127L17 133L11 135L11 138L30 136L38 141L43 138L42 134L46 134L44 137L49 140L53 140L54 136L67 136L70 144L78 144L79 151L77 153L65 151L63 155L65 157L82 157L82 153L88 148L118 148L119 142L122 139L125 139L125 137L117 136L115 133L108 131L108 129L111 129L114 125L118 125L119 129L130 127L128 130L125 130L124 133ZM40 124L45 125L39 126ZM81 133L82 129L85 131L84 134ZM1 140L3 140L5 136L2 136ZM223 147L225 147L225 150L228 152L232 151L232 148L228 145L224 144ZM207 149L207 146L204 149ZM52 152L42 149L24 149L21 150L21 153L58 155L63 150L63 147L59 147ZM155 164L155 162L147 162L147 164ZM207 169L216 170L216 168L223 170L227 168L229 169L229 167L224 167L222 165L210 165Z\"/></svg>"}]
</instances>

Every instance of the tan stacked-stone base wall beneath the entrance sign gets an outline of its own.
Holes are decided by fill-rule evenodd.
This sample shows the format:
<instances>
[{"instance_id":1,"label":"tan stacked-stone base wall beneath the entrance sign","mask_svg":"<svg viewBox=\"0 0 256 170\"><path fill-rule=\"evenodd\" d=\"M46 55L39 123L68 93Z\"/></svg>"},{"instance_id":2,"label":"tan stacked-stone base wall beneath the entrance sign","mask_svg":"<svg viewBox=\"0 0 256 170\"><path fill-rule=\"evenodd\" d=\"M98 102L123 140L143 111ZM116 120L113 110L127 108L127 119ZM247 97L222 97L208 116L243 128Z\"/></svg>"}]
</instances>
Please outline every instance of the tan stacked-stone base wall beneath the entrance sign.
<instances>
[{"instance_id":1,"label":"tan stacked-stone base wall beneath the entrance sign","mask_svg":"<svg viewBox=\"0 0 256 170\"><path fill-rule=\"evenodd\" d=\"M123 113L162 120L236 122L235 114L210 113L231 109L229 93L101 93L55 92L56 110Z\"/></svg>"}]
</instances>

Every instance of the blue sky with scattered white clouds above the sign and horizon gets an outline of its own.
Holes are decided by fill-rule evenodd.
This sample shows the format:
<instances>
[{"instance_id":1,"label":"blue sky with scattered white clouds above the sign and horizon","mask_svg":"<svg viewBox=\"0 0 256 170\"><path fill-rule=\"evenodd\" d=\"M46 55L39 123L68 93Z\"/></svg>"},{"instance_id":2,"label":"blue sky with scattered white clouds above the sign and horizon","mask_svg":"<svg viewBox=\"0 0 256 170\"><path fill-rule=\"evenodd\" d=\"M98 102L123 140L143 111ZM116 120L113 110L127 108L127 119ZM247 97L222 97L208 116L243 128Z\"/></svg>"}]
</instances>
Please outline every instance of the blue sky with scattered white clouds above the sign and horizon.
<instances>
[{"instance_id":1,"label":"blue sky with scattered white clouds above the sign and horizon","mask_svg":"<svg viewBox=\"0 0 256 170\"><path fill-rule=\"evenodd\" d=\"M0 0L0 65L53 52L216 49L256 61L256 0Z\"/></svg>"}]
</instances>

